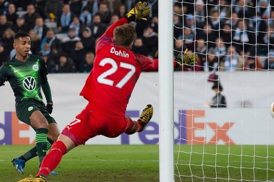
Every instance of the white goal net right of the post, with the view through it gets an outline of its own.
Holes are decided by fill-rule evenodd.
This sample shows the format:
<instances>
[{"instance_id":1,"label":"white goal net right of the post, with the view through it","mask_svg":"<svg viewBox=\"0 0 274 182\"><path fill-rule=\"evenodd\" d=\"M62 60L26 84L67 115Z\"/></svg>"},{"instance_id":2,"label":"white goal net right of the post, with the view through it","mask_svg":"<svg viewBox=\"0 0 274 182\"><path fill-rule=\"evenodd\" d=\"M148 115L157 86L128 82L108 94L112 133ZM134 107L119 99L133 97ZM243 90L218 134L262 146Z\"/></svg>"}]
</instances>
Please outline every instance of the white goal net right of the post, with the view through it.
<instances>
[{"instance_id":1,"label":"white goal net right of the post, with the view through it","mask_svg":"<svg viewBox=\"0 0 274 182\"><path fill-rule=\"evenodd\" d=\"M274 1L173 3L175 181L274 181Z\"/></svg>"}]
</instances>

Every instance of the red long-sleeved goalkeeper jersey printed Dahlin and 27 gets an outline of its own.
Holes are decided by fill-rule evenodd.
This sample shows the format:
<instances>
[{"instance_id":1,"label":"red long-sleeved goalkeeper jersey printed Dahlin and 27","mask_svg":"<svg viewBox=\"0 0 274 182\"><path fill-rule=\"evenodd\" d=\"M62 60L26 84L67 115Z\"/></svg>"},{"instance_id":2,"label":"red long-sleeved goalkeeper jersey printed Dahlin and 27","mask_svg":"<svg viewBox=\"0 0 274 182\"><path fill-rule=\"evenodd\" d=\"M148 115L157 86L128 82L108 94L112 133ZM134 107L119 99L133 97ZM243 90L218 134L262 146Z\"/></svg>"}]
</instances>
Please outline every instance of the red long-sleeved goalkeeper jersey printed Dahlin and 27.
<instances>
[{"instance_id":1,"label":"red long-sleeved goalkeeper jersey printed Dahlin and 27","mask_svg":"<svg viewBox=\"0 0 274 182\"><path fill-rule=\"evenodd\" d=\"M132 90L142 71L158 70L158 60L135 54L113 43L115 27L128 23L125 18L111 25L99 38L96 57L80 93L92 109L124 115Z\"/></svg>"}]
</instances>

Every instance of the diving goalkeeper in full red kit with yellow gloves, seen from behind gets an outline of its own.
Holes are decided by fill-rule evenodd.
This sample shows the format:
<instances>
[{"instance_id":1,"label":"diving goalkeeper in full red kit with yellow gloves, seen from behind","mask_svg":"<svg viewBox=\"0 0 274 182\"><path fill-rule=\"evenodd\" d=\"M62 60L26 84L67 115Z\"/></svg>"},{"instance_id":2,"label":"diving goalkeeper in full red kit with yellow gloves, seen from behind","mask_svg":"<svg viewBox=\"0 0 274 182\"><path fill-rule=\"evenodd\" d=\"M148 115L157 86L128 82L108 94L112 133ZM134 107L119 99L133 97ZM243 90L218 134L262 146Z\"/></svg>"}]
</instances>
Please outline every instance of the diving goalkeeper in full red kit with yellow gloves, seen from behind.
<instances>
[{"instance_id":1,"label":"diving goalkeeper in full red kit with yellow gloves, seen from behind","mask_svg":"<svg viewBox=\"0 0 274 182\"><path fill-rule=\"evenodd\" d=\"M84 145L96 135L115 138L124 132L143 131L153 115L153 107L147 105L137 121L126 116L125 111L141 72L158 70L158 60L130 51L136 32L128 23L146 21L149 13L147 3L139 2L125 18L112 24L99 38L93 69L80 93L88 105L63 128L36 177L27 177L20 182L46 181L49 173L60 163L62 155ZM174 61L174 66L182 67L183 63L190 66L196 62L196 56L181 54Z\"/></svg>"}]
</instances>

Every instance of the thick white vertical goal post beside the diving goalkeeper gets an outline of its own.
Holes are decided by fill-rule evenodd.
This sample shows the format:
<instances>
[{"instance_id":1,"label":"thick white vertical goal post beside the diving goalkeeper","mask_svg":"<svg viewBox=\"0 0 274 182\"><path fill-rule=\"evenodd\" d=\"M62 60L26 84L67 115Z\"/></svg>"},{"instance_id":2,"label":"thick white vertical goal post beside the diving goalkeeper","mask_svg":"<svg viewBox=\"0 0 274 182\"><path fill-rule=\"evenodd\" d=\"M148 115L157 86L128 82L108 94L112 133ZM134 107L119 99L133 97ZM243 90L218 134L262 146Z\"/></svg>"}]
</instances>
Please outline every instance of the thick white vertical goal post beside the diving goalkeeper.
<instances>
[{"instance_id":1,"label":"thick white vertical goal post beside the diving goalkeeper","mask_svg":"<svg viewBox=\"0 0 274 182\"><path fill-rule=\"evenodd\" d=\"M173 2L159 0L159 178L174 181Z\"/></svg>"}]
</instances>

